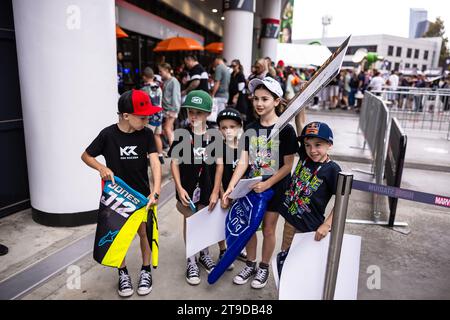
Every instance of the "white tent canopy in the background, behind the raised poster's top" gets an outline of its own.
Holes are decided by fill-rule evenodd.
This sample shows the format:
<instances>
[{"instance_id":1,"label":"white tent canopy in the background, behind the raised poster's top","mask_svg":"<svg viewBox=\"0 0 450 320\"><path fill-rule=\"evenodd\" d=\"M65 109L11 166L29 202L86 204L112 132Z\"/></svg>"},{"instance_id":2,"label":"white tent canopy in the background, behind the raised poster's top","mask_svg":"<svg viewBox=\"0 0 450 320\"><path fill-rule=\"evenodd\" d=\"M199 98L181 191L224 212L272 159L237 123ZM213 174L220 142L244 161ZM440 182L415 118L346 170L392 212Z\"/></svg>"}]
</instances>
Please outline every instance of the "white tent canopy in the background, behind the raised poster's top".
<instances>
[{"instance_id":1,"label":"white tent canopy in the background, behind the raised poster's top","mask_svg":"<svg viewBox=\"0 0 450 320\"><path fill-rule=\"evenodd\" d=\"M277 59L285 66L305 68L321 66L331 55L331 51L322 45L278 43Z\"/></svg>"}]
</instances>

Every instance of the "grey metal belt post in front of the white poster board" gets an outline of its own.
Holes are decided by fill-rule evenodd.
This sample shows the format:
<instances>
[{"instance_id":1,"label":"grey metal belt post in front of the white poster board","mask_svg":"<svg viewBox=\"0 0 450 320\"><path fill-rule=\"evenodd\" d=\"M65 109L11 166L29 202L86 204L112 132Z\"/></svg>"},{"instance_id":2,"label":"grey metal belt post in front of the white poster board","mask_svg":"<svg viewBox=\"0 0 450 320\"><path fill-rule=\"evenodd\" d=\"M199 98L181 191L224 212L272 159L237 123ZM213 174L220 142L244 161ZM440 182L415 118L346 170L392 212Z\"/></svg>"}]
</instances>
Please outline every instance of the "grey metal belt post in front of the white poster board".
<instances>
[{"instance_id":1,"label":"grey metal belt post in front of the white poster board","mask_svg":"<svg viewBox=\"0 0 450 320\"><path fill-rule=\"evenodd\" d=\"M353 175L351 173L339 173L336 188L336 200L334 203L333 227L331 228L330 234L330 247L328 249L327 269L322 295L323 300L333 300L334 298L352 182Z\"/></svg>"}]
</instances>

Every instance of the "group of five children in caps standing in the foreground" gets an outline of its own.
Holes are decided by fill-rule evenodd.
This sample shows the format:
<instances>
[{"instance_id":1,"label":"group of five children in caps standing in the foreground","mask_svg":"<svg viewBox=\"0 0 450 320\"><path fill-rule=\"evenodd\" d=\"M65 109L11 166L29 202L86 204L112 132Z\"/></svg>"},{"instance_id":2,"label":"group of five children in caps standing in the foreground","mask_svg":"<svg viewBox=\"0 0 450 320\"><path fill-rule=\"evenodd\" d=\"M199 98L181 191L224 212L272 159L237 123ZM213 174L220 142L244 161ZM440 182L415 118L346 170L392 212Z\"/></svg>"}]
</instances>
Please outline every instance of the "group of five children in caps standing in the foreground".
<instances>
[{"instance_id":1,"label":"group of five children in caps standing in the foreground","mask_svg":"<svg viewBox=\"0 0 450 320\"><path fill-rule=\"evenodd\" d=\"M176 207L184 217L184 239L186 218L205 207L212 210L219 203L222 208L229 208L232 202L229 195L241 178L262 176L263 179L253 186L253 190L262 193L271 188L274 191L262 223L261 261L257 265L255 234L246 246L245 266L233 278L236 285L252 280L252 288L260 289L266 286L269 279L269 263L276 246L275 229L280 214L286 223L282 251L277 255L279 272L296 232L315 231L316 240L320 240L330 231L332 212L326 219L324 214L328 201L336 191L340 168L328 155L333 134L325 123L312 122L303 128L299 136L288 124L269 140L271 130L279 119L283 90L276 80L269 77L251 80L249 89L257 120L244 130L240 113L226 108L218 114L216 121L221 135L212 133L211 128L207 127L206 119L213 103L211 96L205 91L191 91L182 104L182 108L188 111L187 134L175 134L169 157L172 159ZM123 107L125 102L127 108ZM119 123L104 129L82 156L89 166L100 172L102 179L113 179L115 174L125 179L139 176L139 179L125 181L142 194L149 195L151 204L157 203L161 184L158 152L153 133L146 127L149 117L155 112L157 110L148 95L142 91L124 93L119 99ZM249 132L252 134L245 134ZM149 141L146 144L134 142L142 138ZM138 145L133 148L137 158L120 158L120 151L130 145ZM213 145L215 148L211 147ZM95 160L100 154L105 156L106 166ZM296 155L299 160L291 175ZM152 191L148 184L147 156L152 168ZM144 158L145 161L142 161ZM138 294L142 295L151 291L152 281L145 228L140 228L138 234L143 257ZM220 259L226 251L224 241L219 243L219 249ZM186 261L186 281L190 285L198 285L201 281L198 264L208 273L216 266L208 248L202 250L198 257L192 256ZM229 270L232 268L233 265ZM118 292L120 296L133 294L125 262L119 269Z\"/></svg>"}]
</instances>

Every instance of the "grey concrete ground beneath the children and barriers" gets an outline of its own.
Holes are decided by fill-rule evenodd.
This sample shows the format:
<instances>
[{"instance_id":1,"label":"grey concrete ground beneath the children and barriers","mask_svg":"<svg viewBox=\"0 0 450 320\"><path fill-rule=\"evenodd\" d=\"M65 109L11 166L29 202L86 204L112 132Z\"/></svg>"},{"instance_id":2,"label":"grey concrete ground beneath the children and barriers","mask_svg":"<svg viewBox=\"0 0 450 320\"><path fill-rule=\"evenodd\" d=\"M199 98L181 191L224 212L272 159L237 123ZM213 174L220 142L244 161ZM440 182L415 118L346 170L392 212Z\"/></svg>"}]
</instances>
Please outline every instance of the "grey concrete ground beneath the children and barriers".
<instances>
[{"instance_id":1,"label":"grey concrete ground beneath the children and barriers","mask_svg":"<svg viewBox=\"0 0 450 320\"><path fill-rule=\"evenodd\" d=\"M308 113L308 120L322 120L330 123L335 132L332 158L336 159L344 171L352 169L368 170L368 151L351 148L362 145L362 138L356 133L357 118L352 115ZM450 157L442 151L423 156L429 146L421 142L414 133L409 135L408 148L416 150L407 154L409 163L420 164L429 169L428 164L439 162L442 168L450 167ZM420 135L419 135L420 136ZM436 145L441 150L450 150L450 142L438 139ZM430 138L431 139L431 138ZM434 139L434 140L436 140ZM421 151L422 150L422 151ZM440 156L439 156L440 155ZM430 161L430 158L433 158ZM352 162L354 160L358 162ZM426 160L426 161L425 161ZM432 167L432 169L436 169ZM449 170L450 171L450 170ZM166 182L169 181L168 166L165 166ZM355 179L367 180L368 176L356 173ZM405 168L402 187L428 193L450 195L450 172ZM333 204L330 201L329 207ZM386 201L382 203L387 212ZM371 195L353 190L349 202L348 218L371 219ZM382 220L387 219L384 214ZM185 281L184 245L182 241L182 217L175 209L175 200L169 200L159 210L160 265L153 270L153 292L145 297L135 294L131 299L214 299L253 300L277 299L273 278L263 290L255 290L250 285L232 284L232 277L243 267L237 261L234 271L226 272L214 285L207 284L207 276L201 269L202 283L192 287ZM283 219L277 226L277 247L281 242ZM396 221L408 223L410 233L405 235L389 228L376 225L347 223L345 232L362 237L361 262L359 271L358 299L450 299L450 210L416 202L399 200ZM14 275L27 275L27 268L45 261L68 245L92 235L95 225L75 228L52 228L38 225L31 219L30 210L16 213L0 220L0 243L9 247L10 252L0 257L0 288L5 280ZM261 239L261 234L258 235ZM261 241L259 241L261 245ZM128 269L136 286L141 258L136 238L128 257ZM258 251L260 252L260 250ZM218 248L212 248L215 257ZM81 270L81 287L69 289L69 269L45 280L31 290L23 299L120 299L117 295L117 271L103 267L92 259L92 254L74 263ZM381 287L369 289L367 282L373 266L381 271Z\"/></svg>"}]
</instances>

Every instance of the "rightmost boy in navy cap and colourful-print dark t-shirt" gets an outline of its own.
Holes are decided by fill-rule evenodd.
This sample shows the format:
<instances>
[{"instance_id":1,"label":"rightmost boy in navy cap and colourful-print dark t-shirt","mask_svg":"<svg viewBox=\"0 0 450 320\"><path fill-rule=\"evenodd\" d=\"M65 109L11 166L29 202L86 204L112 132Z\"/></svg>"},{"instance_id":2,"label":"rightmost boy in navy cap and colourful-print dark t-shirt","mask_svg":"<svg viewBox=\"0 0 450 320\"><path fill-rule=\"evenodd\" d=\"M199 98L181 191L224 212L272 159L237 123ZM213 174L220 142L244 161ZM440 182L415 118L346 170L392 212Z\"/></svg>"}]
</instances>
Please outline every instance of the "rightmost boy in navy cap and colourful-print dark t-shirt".
<instances>
[{"instance_id":1,"label":"rightmost boy in navy cap and colourful-print dark t-shirt","mask_svg":"<svg viewBox=\"0 0 450 320\"><path fill-rule=\"evenodd\" d=\"M339 165L330 160L333 132L323 122L306 125L299 137L300 159L284 197L280 214L286 219L281 252L277 255L278 274L296 232L315 231L315 240L325 238L331 229L334 207L325 218L325 209L336 194Z\"/></svg>"}]
</instances>

